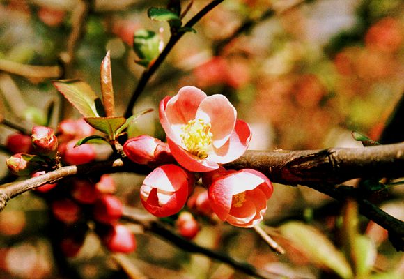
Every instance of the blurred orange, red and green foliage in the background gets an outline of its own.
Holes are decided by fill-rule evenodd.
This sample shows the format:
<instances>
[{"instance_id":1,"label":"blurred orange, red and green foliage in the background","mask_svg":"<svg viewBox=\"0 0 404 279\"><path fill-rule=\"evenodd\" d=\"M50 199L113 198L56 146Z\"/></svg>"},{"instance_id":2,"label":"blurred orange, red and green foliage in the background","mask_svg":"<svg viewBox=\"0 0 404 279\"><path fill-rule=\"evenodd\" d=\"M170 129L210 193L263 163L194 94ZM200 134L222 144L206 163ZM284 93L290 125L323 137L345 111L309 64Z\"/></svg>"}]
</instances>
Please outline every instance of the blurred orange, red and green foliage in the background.
<instances>
[{"instance_id":1,"label":"blurred orange, red and green foliage in the background","mask_svg":"<svg viewBox=\"0 0 404 279\"><path fill-rule=\"evenodd\" d=\"M85 80L100 92L100 62L107 50L111 50L117 115L125 112L143 71L134 63L137 56L132 50L133 33L150 29L159 33L166 43L168 24L153 22L146 10L151 6L166 6L167 2L93 1L76 52L74 77ZM183 6L189 3L182 2ZM306 1L259 20L272 5L288 6L293 2L228 0L208 13L196 24L197 33L187 33L181 38L146 86L134 112L148 107L155 111L142 116L130 135L163 137L158 123L158 103L164 96L175 94L181 86L194 85L208 94L222 93L231 100L239 118L249 122L253 129L251 149L360 146L352 140L352 130L378 140L394 106L403 96L403 1ZM207 3L195 0L185 21ZM61 65L59 57L72 30L75 6L76 0L1 0L0 68L4 61ZM249 20L254 24L247 32L228 40ZM49 80L10 75L0 70L0 100L2 118L27 130L34 123L45 123L47 107L54 102L56 110L51 126L57 126L61 97ZM78 114L68 110L63 117L78 117ZM5 142L13 132L1 126L0 142ZM1 156L3 160L8 154L4 152ZM6 176L4 167L1 175ZM114 179L123 201L139 206L137 191L141 178L116 174ZM398 187L389 189L382 208L403 220L403 190ZM374 255L368 259L371 264L364 268L362 278L371 272L387 271L389 274L383 275L386 277L374 278L402 278L403 255L391 247L384 229L368 223L347 207L341 209L329 197L309 188L276 185L274 197L268 202L265 223L280 226L275 239L286 247L286 255L271 252L254 232L228 225L205 223L195 241L286 278L349 278L349 274L341 271L341 266L347 264L337 260L337 267L330 266L321 259L327 257L329 246L335 253L345 253L351 269L359 266L355 255ZM63 278L56 272L52 257L52 240L49 240L52 227L48 219L45 202L30 193L13 199L0 213L0 278ZM322 243L325 251L305 246L304 239L300 238L293 244L296 234L306 228L294 220L309 224L311 229L316 227L310 231L313 239L327 237L333 244ZM344 236L348 229L343 224L352 220L357 220L358 225L354 229L357 235L351 235L351 241L359 235L371 240L371 244L361 246L363 249L352 245L350 250L347 248L350 238ZM133 229L136 232L137 228ZM137 242L139 248L130 259L149 278L247 277L224 264L178 250L155 236L137 234ZM92 234L88 234L79 257L69 262L83 278L125 278L116 261Z\"/></svg>"}]
</instances>

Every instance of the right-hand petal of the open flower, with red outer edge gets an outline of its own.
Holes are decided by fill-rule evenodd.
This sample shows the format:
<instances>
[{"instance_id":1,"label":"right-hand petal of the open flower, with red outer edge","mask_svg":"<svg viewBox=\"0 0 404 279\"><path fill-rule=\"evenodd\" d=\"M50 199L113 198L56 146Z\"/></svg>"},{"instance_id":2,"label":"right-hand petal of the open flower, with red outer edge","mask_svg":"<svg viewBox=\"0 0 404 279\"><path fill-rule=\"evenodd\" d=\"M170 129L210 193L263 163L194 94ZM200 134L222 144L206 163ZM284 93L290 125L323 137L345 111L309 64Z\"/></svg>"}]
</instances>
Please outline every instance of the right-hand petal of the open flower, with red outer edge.
<instances>
[{"instance_id":1,"label":"right-hand petal of the open flower, with red outer edge","mask_svg":"<svg viewBox=\"0 0 404 279\"><path fill-rule=\"evenodd\" d=\"M214 148L215 153L211 153L208 159L219 164L232 162L245 153L250 140L251 129L249 125L242 120L237 120L233 133L231 133L226 144L219 149Z\"/></svg>"}]
</instances>

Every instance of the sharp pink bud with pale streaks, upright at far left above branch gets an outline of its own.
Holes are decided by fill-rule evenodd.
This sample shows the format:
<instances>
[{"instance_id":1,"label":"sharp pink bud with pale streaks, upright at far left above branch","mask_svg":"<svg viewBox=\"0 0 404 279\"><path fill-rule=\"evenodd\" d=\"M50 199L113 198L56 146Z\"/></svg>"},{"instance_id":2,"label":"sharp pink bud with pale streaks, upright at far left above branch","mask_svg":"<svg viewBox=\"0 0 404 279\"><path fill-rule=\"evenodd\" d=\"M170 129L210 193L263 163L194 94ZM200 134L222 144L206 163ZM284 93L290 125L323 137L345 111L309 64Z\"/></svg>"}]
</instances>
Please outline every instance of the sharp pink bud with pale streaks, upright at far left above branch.
<instances>
[{"instance_id":1,"label":"sharp pink bud with pale streaks, upright at far left above branch","mask_svg":"<svg viewBox=\"0 0 404 279\"><path fill-rule=\"evenodd\" d=\"M32 144L40 155L54 156L58 149L58 139L54 130L45 126L32 128Z\"/></svg>"}]
</instances>

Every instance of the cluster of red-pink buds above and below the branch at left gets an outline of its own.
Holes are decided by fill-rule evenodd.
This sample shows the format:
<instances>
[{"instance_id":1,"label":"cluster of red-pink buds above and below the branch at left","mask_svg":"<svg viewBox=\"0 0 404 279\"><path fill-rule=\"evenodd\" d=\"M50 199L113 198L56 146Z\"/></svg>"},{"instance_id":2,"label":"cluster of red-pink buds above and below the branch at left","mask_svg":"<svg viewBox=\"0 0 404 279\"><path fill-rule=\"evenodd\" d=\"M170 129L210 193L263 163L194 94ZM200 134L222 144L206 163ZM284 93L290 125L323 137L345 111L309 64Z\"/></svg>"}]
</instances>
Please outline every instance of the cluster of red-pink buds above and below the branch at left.
<instances>
[{"instance_id":1,"label":"cluster of red-pink buds above and below the branch at left","mask_svg":"<svg viewBox=\"0 0 404 279\"><path fill-rule=\"evenodd\" d=\"M97 156L94 146L75 144L94 131L84 119L66 119L59 123L56 133L49 127L34 126L31 136L12 134L6 146L15 154L6 160L7 166L14 174L36 177L58 164L91 163ZM108 174L46 183L34 190L49 203L61 232L59 246L66 257L75 257L80 252L90 229L84 225L88 221L94 224L93 231L111 252L128 253L136 249L134 235L119 222L123 204L115 195L116 185Z\"/></svg>"}]
</instances>

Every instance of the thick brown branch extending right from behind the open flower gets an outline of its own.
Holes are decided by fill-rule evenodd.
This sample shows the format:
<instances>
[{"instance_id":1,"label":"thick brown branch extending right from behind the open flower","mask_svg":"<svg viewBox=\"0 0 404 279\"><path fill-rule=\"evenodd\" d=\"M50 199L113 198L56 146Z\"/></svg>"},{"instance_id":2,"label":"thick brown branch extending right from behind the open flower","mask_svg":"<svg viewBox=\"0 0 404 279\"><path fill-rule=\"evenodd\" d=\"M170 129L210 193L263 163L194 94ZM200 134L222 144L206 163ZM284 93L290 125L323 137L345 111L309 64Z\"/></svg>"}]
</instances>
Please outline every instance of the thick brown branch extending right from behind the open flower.
<instances>
[{"instance_id":1,"label":"thick brown branch extending right from behind the open flower","mask_svg":"<svg viewBox=\"0 0 404 279\"><path fill-rule=\"evenodd\" d=\"M247 151L226 168L257 169L290 185L342 183L355 178L404 176L404 142L355 149Z\"/></svg>"}]
</instances>

